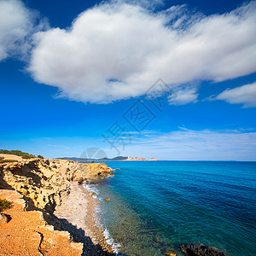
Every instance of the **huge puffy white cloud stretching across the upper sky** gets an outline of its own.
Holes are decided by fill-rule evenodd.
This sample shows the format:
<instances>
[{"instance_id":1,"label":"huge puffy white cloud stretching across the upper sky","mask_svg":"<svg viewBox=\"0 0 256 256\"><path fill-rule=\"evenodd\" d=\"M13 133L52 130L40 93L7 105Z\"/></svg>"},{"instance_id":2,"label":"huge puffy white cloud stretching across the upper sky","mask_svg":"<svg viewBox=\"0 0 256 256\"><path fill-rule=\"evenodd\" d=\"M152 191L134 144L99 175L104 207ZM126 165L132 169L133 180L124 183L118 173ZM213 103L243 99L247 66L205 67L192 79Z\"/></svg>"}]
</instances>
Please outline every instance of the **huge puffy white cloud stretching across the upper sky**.
<instances>
[{"instance_id":1,"label":"huge puffy white cloud stretching across the upper sky","mask_svg":"<svg viewBox=\"0 0 256 256\"><path fill-rule=\"evenodd\" d=\"M104 3L68 29L39 32L28 70L60 96L92 103L141 96L159 78L172 88L234 79L256 71L255 11L256 2L207 17ZM196 101L195 87L177 91L172 104Z\"/></svg>"}]
</instances>

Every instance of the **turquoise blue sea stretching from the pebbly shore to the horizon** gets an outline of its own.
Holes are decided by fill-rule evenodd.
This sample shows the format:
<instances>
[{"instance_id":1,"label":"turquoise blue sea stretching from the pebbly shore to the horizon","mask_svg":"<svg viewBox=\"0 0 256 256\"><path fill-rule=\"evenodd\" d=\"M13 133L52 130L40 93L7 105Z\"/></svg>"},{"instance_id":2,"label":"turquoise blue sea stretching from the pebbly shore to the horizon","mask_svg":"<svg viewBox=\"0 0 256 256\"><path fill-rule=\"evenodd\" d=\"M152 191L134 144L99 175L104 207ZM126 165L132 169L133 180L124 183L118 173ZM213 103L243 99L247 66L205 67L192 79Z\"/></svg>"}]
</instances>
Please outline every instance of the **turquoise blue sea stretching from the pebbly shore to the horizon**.
<instances>
[{"instance_id":1,"label":"turquoise blue sea stretching from the pebbly shore to the horizon","mask_svg":"<svg viewBox=\"0 0 256 256\"><path fill-rule=\"evenodd\" d=\"M183 243L256 255L256 162L117 161L102 183L101 217L127 255L164 255ZM109 197L111 201L104 201ZM161 242L156 242L155 238Z\"/></svg>"}]
</instances>

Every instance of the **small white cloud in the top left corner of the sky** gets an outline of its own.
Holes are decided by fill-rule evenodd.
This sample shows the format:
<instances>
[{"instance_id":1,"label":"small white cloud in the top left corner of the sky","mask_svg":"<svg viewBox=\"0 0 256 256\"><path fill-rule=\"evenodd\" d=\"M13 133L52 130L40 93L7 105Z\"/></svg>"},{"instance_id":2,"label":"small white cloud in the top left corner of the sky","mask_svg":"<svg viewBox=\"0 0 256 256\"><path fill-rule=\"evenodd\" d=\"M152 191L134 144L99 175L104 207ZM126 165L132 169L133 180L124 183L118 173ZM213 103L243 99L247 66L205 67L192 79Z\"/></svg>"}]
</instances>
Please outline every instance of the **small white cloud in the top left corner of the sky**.
<instances>
[{"instance_id":1,"label":"small white cloud in the top left corner of the sky","mask_svg":"<svg viewBox=\"0 0 256 256\"><path fill-rule=\"evenodd\" d=\"M0 0L0 61L13 55L26 59L32 34L47 26L46 20L37 18L38 13L19 0Z\"/></svg>"}]
</instances>

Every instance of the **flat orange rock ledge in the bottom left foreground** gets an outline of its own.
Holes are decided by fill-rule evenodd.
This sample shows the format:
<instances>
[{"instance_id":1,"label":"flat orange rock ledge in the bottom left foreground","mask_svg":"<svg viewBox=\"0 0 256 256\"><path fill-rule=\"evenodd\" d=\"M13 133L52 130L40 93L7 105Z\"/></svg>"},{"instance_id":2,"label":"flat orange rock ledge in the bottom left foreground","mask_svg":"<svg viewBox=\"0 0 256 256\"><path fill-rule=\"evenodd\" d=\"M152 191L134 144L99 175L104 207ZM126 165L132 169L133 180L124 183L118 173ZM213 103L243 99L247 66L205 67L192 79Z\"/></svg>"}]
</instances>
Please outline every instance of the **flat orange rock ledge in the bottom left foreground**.
<instances>
[{"instance_id":1,"label":"flat orange rock ledge in the bottom left foreground","mask_svg":"<svg viewBox=\"0 0 256 256\"><path fill-rule=\"evenodd\" d=\"M24 211L26 201L15 190L0 189L0 198L8 199L12 207L1 213L11 217L0 227L0 255L79 256L83 244L72 241L67 231L57 231L47 224L43 213Z\"/></svg>"}]
</instances>

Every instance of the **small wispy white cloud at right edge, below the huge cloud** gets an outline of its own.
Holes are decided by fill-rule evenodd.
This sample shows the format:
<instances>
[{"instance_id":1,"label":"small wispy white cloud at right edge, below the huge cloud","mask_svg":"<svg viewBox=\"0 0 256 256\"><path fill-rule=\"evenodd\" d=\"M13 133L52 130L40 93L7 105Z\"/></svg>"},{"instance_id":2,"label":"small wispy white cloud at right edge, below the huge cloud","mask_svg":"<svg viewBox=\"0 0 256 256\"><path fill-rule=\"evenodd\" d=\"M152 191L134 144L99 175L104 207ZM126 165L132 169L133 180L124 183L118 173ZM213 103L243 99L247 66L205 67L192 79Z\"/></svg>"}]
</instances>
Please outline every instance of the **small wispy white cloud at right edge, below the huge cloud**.
<instances>
[{"instance_id":1,"label":"small wispy white cloud at right edge, below the huge cloud","mask_svg":"<svg viewBox=\"0 0 256 256\"><path fill-rule=\"evenodd\" d=\"M224 90L215 99L223 100L230 104L244 104L244 108L256 107L256 82Z\"/></svg>"}]
</instances>

